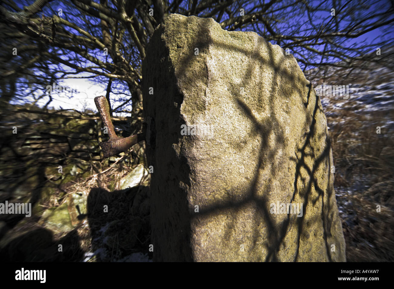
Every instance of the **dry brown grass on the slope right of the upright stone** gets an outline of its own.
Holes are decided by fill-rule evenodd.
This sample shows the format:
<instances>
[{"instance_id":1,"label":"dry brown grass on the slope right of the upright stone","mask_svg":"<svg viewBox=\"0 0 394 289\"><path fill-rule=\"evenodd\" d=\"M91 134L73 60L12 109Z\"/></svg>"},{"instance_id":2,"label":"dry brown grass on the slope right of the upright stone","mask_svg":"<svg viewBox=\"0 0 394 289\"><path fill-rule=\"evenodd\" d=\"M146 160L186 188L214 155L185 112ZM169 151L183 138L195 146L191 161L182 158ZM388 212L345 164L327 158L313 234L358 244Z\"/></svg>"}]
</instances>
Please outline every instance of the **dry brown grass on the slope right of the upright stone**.
<instances>
[{"instance_id":1,"label":"dry brown grass on the slope right of the upright stone","mask_svg":"<svg viewBox=\"0 0 394 289\"><path fill-rule=\"evenodd\" d=\"M394 138L387 116L349 109L341 117L327 122L347 261L394 261Z\"/></svg>"}]
</instances>

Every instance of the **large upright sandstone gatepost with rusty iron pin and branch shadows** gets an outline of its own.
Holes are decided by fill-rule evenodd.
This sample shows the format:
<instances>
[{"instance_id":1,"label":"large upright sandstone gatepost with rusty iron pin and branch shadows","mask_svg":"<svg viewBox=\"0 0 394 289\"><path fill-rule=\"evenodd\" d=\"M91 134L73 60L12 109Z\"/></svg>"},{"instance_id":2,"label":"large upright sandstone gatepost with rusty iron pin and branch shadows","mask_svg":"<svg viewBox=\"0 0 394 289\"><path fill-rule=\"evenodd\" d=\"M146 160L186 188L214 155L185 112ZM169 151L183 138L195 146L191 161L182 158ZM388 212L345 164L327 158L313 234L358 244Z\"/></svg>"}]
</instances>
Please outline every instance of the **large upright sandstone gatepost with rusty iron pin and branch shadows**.
<instances>
[{"instance_id":1,"label":"large upright sandstone gatepost with rusty iron pin and branch shadows","mask_svg":"<svg viewBox=\"0 0 394 289\"><path fill-rule=\"evenodd\" d=\"M172 14L142 69L154 261L345 261L326 118L292 55Z\"/></svg>"}]
</instances>

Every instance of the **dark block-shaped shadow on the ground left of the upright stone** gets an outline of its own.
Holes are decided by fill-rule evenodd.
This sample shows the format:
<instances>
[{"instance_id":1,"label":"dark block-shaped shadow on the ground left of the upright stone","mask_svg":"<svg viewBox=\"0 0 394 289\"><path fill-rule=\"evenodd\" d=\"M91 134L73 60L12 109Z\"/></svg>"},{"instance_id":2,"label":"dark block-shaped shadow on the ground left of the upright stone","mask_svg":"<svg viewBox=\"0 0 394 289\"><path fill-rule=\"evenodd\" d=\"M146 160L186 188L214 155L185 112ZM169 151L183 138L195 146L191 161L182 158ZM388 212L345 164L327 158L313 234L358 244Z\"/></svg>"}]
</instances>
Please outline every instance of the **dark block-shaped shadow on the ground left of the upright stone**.
<instances>
[{"instance_id":1,"label":"dark block-shaped shadow on the ground left of the upright stone","mask_svg":"<svg viewBox=\"0 0 394 289\"><path fill-rule=\"evenodd\" d=\"M92 252L97 261L119 261L134 253L149 253L149 187L107 191L92 188L87 198L87 218Z\"/></svg>"}]
</instances>

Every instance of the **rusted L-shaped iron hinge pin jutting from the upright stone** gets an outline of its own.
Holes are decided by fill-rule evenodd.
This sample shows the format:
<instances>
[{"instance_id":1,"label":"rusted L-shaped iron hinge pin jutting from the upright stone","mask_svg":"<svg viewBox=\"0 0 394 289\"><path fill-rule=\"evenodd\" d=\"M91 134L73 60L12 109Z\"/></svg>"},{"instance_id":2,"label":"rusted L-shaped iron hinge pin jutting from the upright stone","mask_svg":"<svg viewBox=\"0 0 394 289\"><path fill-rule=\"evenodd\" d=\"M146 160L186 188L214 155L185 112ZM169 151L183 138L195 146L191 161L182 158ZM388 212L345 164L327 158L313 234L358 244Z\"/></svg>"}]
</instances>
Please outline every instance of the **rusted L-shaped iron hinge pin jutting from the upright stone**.
<instances>
[{"instance_id":1,"label":"rusted L-shaped iron hinge pin jutting from the upright stone","mask_svg":"<svg viewBox=\"0 0 394 289\"><path fill-rule=\"evenodd\" d=\"M111 117L110 117L110 106L105 96L97 96L95 98L95 104L97 110L99 110L104 127L108 129L108 136L110 139L108 142L102 142L100 147L104 154L104 158L109 158L110 156L117 155L123 151L128 150L130 147L135 145L142 140L145 140L146 125L143 126L143 132L139 134L133 134L127 138L119 138L113 127Z\"/></svg>"}]
</instances>

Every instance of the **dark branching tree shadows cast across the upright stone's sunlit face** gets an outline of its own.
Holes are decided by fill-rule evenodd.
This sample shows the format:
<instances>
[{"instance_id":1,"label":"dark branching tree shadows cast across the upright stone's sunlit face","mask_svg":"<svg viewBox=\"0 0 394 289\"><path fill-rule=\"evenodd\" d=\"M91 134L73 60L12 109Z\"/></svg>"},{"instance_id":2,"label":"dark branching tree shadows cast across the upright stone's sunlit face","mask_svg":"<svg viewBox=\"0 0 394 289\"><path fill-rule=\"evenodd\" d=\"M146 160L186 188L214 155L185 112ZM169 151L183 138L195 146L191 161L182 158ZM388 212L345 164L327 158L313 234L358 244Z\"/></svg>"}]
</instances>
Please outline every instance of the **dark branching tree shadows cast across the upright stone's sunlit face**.
<instances>
[{"instance_id":1,"label":"dark branching tree shadows cast across the upright stone's sunlit face","mask_svg":"<svg viewBox=\"0 0 394 289\"><path fill-rule=\"evenodd\" d=\"M204 22L205 25L208 25L208 21ZM201 26L199 27L199 31L195 34L195 35L205 35L204 37L201 37L201 39L199 39L199 37L197 37L196 39L193 39L193 43L191 44L192 47L197 47L197 45L199 45L198 47L200 47L200 53L204 52L206 48L209 47L210 44L214 44L216 46L222 46L225 47L228 50L238 50L242 53L245 53L249 55L249 52L247 52L246 50L242 50L239 47L233 45L233 44L223 44L220 43L216 40L213 40L212 38L206 38L207 34L203 34L203 33L209 33L209 29L208 28L204 28L204 26L202 26L203 28L201 28ZM209 35L209 34L208 34ZM265 40L262 38L258 39L258 45L261 45L262 42L264 42ZM255 219L255 227L253 228L254 230L254 235L253 235L253 247L251 250L254 249L254 247L258 244L262 242L262 238L260 236L260 233L258 232L258 225L257 224L261 224L264 223L266 228L267 228L267 234L268 236L265 238L266 242L263 244L264 247L266 247L267 249L267 254L266 254L266 259L264 261L281 261L278 253L279 250L281 250L281 246L286 246L286 244L284 244L284 239L286 237L286 234L290 231L291 226L296 223L297 224L297 232L298 232L298 236L297 236L297 249L296 249L296 253L294 254L294 260L293 261L297 261L298 257L299 257L299 245L300 245L300 239L301 239L301 235L303 234L303 224L305 222L316 222L316 220L306 220L305 219L305 214L303 215L303 217L298 217L296 218L297 221L296 222L292 222L290 223L290 214L287 214L287 218L285 220L283 220L280 224L277 224L277 222L275 222L275 218L273 218L272 214L270 214L269 212L269 204L268 204L268 199L267 199L267 195L269 192L269 186L266 186L266 184L264 184L263 186L265 186L264 188L261 187L261 184L259 183L260 179L261 179L261 168L265 165L263 163L264 160L264 156L265 156L265 161L266 162L271 162L275 155L277 154L277 150L278 147L281 147L281 145L283 145L283 143L286 141L286 138L284 136L284 131L283 129L280 127L279 125L279 120L275 114L275 110L273 107L273 101L275 101L274 96L277 93L278 90L281 89L281 87L277 87L276 83L277 83L277 75L280 73L281 75L285 75L286 79L288 79L288 81L299 81L299 79L295 79L294 74L289 74L287 72L285 72L280 64L281 63L275 63L274 61L274 57L273 57L273 50L272 50L272 46L270 46L269 44L267 45L268 47L268 53L269 53L269 64L271 65L271 67L273 67L273 77L272 77L272 81L271 81L271 89L269 91L269 95L266 96L267 98L269 98L269 104L270 104L270 108L269 111L270 113L270 117L266 117L262 120L258 120L251 108L245 103L245 101L243 101L242 98L239 97L240 93L239 91L236 91L234 89L234 86L230 86L230 94L233 98L233 101L238 105L239 110L241 113L243 113L245 116L247 116L247 118L253 123L254 127L255 127L255 131L258 132L258 134L261 136L262 138L262 142L260 144L259 147L259 157L258 157L258 162L256 163L256 169L255 169L255 174L253 175L253 178L251 178L250 181L250 185L249 187L245 188L243 195L242 195L242 200L241 201L232 201L232 200L227 200L227 201L217 201L214 203L209 204L208 206L204 206L201 207L201 209L199 210L198 213L196 214L191 214L190 215L190 219L188 220L189 222L191 222L193 219L195 218L199 218L202 216L209 216L209 215L217 215L217 214L221 214L225 211L227 211L228 209L233 210L233 212L235 212L234 214L237 214L237 212L239 212L239 210L241 210L241 208L245 205L252 205L256 208L255 210L255 214L253 215L253 218ZM249 55L249 57L251 58L261 58L258 54L258 47L255 47L255 50L253 53L251 53L251 55ZM167 51L168 52L168 51ZM193 55L193 53L190 53L186 56L184 56L181 60L181 64L178 64L178 71L177 71L177 76L175 77L175 72L172 71L173 76L174 76L174 80L177 80L177 77L180 75L183 75L186 70L187 67L190 66L190 63L193 59L193 57L195 57L195 55ZM285 57L283 55L283 57ZM250 76L252 74L253 71L253 67L251 66L252 62L249 62L249 65L247 66L246 70L245 70L245 76L243 79L243 84L244 86L246 86L245 84L247 84L251 78L248 77L248 75ZM171 63L168 63L169 67L171 66ZM207 78L208 79L208 78ZM168 80L169 82L171 81L171 79ZM324 239L325 239L325 247L326 247L326 251L327 251L327 258L329 261L332 261L331 259L331 255L330 255L330 250L329 250L329 245L327 243L327 236L329 236L331 234L330 232L330 224L332 222L333 216L330 213L330 215L325 215L324 211L326 210L326 205L324 204L324 190L322 188L320 188L318 181L316 180L316 178L314 177L314 173L316 171L316 169L320 166L320 164L322 164L322 162L324 160L327 160L327 156L330 156L330 150L331 150L331 143L329 140L329 136L327 134L318 136L315 136L315 132L314 132L314 127L315 127L315 123L316 123L316 112L318 111L318 109L320 108L320 100L318 98L318 96L315 94L316 98L310 98L310 94L311 94L311 90L312 90L312 85L309 82L308 86L308 93L305 96L303 91L301 91L300 89L296 88L296 91L298 92L299 98L301 103L303 104L303 107L305 107L305 112L308 112L309 110L307 110L308 107L310 107L310 105L313 105L313 100L314 100L314 109L313 109L313 114L309 115L308 113L306 114L306 118L305 120L303 119L301 121L301 123L303 123L303 128L305 130L305 135L304 137L306 137L306 140L304 142L304 144L301 146L301 149L298 149L298 153L301 154L300 158L295 158L295 159L291 159L292 161L296 162L296 172L294 175L294 191L292 194L292 197L288 201L294 201L294 198L296 197L296 195L298 195L298 197L302 197L304 200L303 206L305 208L307 208L310 204L310 200L309 200L309 196L311 194L311 190L312 190L312 184L314 186L314 189L316 191L318 191L319 193L319 197L322 196L322 219L323 219L323 230L324 230ZM174 89L176 90L176 89ZM173 91L173 90L170 90ZM182 101L183 101L183 97L182 97ZM182 103L182 102L181 102ZM180 103L178 103L178 108L180 108ZM180 114L179 110L177 110L177 113ZM293 124L295 125L295 124ZM275 147L274 149L268 146L268 142L267 142L267 136L273 132L275 134L275 142L277 143L277 147ZM312 136L314 136L315 138L318 138L318 142L324 142L325 141L325 147L323 149L322 154L318 155L316 158L314 157L314 163L312 168L309 168L309 166L307 166L307 164L304 161L305 156L308 155L308 152L306 151L306 147L307 145L310 145L310 139L312 138ZM179 136L178 136L179 137ZM325 138L325 140L323 140L323 138ZM173 151L172 147L166 147L163 149L163 151ZM266 152L268 153L268 156L266 156ZM314 152L313 152L314 154ZM177 155L175 155L175 153L173 153L173 157L177 158ZM330 158L328 158L327 162L330 161ZM326 162L326 163L327 163ZM327 165L327 164L326 164ZM185 164L185 166L187 166L187 164ZM299 179L301 179L301 181L305 182L307 181L306 179L303 179L301 177L301 172L300 169L304 168L308 174L309 174L309 180L308 180L308 185L307 185L307 189L306 190L301 190L297 187L297 182ZM188 173L190 174L190 167L188 168ZM271 177L273 176L273 174L275 173L274 168L271 167ZM329 182L328 182L328 186L330 184L330 178L331 175L329 176ZM190 185L190 184L189 184ZM174 183L174 186L177 186L177 183ZM325 188L325 190L328 191L328 198L331 198L331 194L332 194L332 188L329 188L327 186L327 188ZM263 194L261 193L263 192ZM181 192L179 192L181 193ZM231 193L229 193L229 195L231 195ZM186 197L183 198L183 201L187 202ZM179 203L182 203L183 201L180 201ZM313 204L315 204L317 201L317 199L313 202ZM330 212L331 207L330 204L328 205L329 208L327 210L327 212ZM167 208L168 209L168 208ZM290 226L290 228L289 228ZM226 225L226 232L225 232L225 236L223 237L223 243L228 243L228 239L229 236L232 234L232 231L235 230L235 226L234 224L227 224ZM163 236L164 237L164 236ZM165 237L167 242L170 242L171 239L169 237ZM190 238L190 236L189 236ZM264 238L263 238L264 239ZM258 261L263 261L263 260L258 260Z\"/></svg>"}]
</instances>

